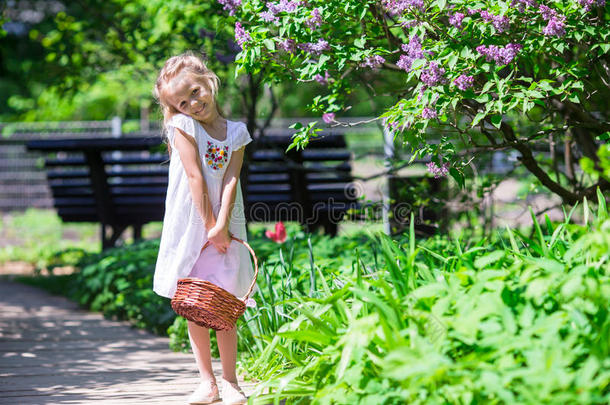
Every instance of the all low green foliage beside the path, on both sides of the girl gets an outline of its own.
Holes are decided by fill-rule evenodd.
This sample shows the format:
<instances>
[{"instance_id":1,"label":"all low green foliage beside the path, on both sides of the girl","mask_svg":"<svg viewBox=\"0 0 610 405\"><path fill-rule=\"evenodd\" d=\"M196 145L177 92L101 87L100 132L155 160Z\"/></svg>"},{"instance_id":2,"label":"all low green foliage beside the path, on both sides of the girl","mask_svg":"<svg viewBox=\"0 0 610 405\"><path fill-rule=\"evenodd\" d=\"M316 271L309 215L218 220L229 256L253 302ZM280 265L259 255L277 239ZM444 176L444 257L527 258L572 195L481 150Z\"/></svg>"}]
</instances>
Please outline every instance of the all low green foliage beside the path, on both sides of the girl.
<instances>
[{"instance_id":1,"label":"all low green foliage beside the path, on both sides of the girl","mask_svg":"<svg viewBox=\"0 0 610 405\"><path fill-rule=\"evenodd\" d=\"M572 210L487 238L288 227L277 245L255 232L258 308L238 325L255 401L608 403L610 219L598 197L595 212L575 208L584 226ZM63 291L188 350L184 320L151 290L157 246L84 256Z\"/></svg>"}]
</instances>

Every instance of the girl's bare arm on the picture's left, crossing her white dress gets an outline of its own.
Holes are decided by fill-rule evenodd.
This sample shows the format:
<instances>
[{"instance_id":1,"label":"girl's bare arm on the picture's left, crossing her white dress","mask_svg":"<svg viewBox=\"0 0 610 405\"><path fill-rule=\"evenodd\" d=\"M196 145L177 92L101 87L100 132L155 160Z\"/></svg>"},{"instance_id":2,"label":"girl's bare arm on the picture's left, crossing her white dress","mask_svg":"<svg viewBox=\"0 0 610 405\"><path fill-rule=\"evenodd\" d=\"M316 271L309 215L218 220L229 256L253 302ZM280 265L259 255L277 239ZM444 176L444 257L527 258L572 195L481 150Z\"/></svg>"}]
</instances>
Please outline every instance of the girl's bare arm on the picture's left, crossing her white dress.
<instances>
[{"instance_id":1,"label":"girl's bare arm on the picture's left, crossing her white dress","mask_svg":"<svg viewBox=\"0 0 610 405\"><path fill-rule=\"evenodd\" d=\"M178 149L180 160L184 166L186 176L188 177L193 204L195 204L195 208L197 209L197 212L199 212L203 224L209 231L216 225L216 218L214 218L214 211L212 210L212 203L208 194L208 186L205 182L205 177L203 177L197 142L193 137L186 135L178 129L178 135L175 137L174 144L176 145L176 149Z\"/></svg>"}]
</instances>

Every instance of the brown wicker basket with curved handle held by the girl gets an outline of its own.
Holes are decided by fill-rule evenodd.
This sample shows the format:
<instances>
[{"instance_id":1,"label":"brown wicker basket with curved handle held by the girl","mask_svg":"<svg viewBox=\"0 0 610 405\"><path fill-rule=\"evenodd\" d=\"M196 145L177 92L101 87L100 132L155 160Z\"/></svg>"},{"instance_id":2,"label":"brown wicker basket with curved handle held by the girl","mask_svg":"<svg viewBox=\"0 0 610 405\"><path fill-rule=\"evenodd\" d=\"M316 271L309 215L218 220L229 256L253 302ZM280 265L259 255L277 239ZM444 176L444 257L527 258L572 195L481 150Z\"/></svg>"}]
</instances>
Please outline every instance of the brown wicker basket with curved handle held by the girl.
<instances>
[{"instance_id":1,"label":"brown wicker basket with curved handle held by the girl","mask_svg":"<svg viewBox=\"0 0 610 405\"><path fill-rule=\"evenodd\" d=\"M239 299L214 283L189 277L178 280L176 294L172 298L172 308L178 315L205 328L233 329L237 319L246 311L246 301L256 284L258 260L254 250L241 239L233 236L231 239L247 247L254 258L254 279L246 295ZM209 245L208 241L201 251Z\"/></svg>"}]
</instances>

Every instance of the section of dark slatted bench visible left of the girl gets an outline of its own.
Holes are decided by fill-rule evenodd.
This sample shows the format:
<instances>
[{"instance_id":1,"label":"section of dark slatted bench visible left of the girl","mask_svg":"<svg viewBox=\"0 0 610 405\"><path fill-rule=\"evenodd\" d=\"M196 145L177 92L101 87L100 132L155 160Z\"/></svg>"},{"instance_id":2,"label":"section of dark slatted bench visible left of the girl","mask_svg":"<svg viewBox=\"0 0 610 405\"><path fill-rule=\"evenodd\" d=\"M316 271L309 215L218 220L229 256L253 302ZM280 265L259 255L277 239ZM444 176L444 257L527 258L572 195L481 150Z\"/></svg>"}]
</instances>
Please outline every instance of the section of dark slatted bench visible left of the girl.
<instances>
[{"instance_id":1,"label":"section of dark slatted bench visible left of the girl","mask_svg":"<svg viewBox=\"0 0 610 405\"><path fill-rule=\"evenodd\" d=\"M27 143L47 154L45 168L53 204L66 222L99 222L102 247L123 231L162 221L167 154L159 137L53 139Z\"/></svg>"}]
</instances>

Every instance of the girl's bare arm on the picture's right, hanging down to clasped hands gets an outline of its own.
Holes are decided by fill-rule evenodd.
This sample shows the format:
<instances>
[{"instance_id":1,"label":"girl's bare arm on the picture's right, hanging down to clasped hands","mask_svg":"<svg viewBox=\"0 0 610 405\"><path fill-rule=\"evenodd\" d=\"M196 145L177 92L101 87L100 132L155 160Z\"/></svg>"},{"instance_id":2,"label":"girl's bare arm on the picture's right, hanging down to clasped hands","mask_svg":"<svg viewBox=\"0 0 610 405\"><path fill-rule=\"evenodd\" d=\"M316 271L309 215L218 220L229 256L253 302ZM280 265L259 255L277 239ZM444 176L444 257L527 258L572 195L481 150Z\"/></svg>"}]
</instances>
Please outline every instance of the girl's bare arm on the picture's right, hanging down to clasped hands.
<instances>
[{"instance_id":1,"label":"girl's bare arm on the picture's right, hanging down to clasped hands","mask_svg":"<svg viewBox=\"0 0 610 405\"><path fill-rule=\"evenodd\" d=\"M229 247L229 224L231 223L231 212L237 195L237 182L244 160L244 148L234 150L231 154L229 166L222 179L222 192L220 197L220 211L214 228L210 229L208 239L217 247L225 251Z\"/></svg>"}]
</instances>

